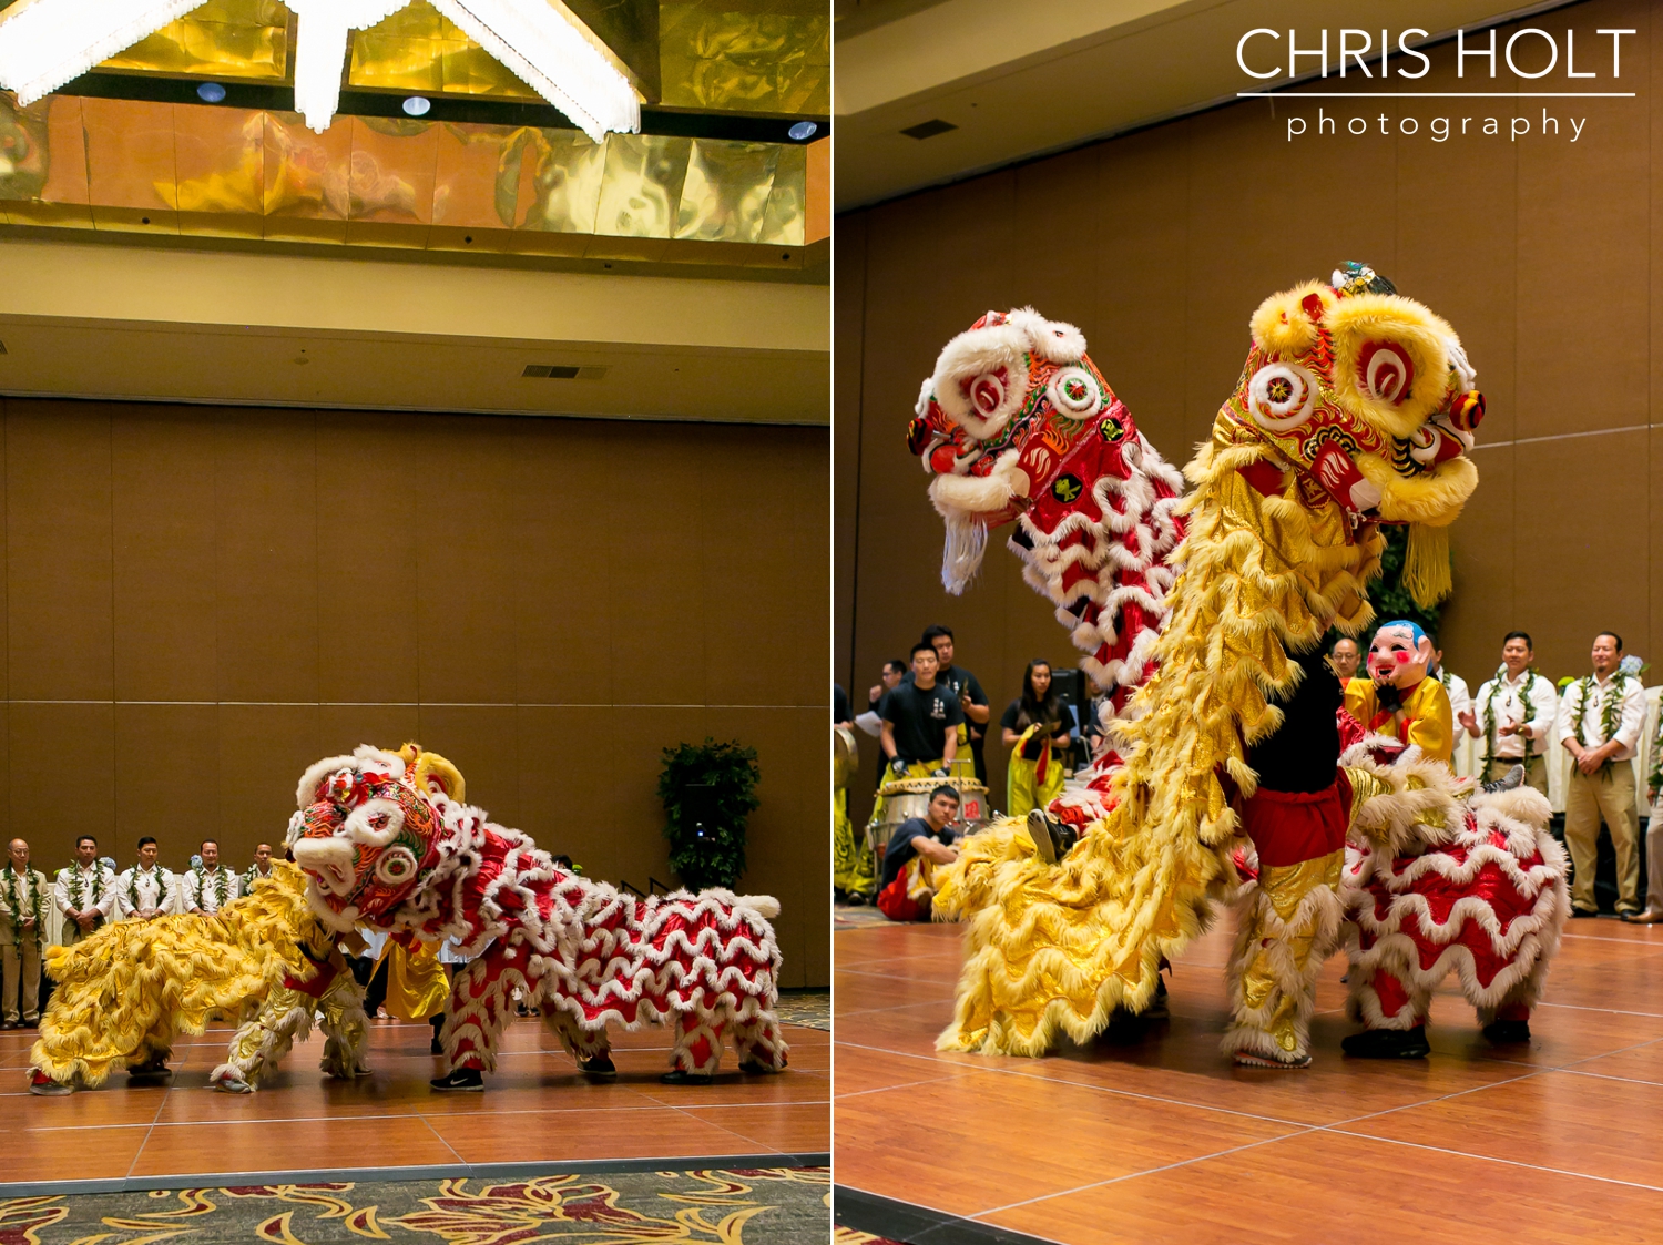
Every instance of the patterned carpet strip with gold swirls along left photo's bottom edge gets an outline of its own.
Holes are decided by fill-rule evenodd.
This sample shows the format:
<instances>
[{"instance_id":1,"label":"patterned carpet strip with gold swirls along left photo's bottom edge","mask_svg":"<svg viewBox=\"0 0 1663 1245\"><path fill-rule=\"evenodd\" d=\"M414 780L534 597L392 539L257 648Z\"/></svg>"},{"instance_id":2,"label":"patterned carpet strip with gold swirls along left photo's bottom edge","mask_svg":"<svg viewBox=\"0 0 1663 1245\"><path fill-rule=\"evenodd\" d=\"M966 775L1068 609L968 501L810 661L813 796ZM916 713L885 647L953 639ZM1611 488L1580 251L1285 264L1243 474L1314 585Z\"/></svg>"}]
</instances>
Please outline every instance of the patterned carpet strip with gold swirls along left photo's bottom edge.
<instances>
[{"instance_id":1,"label":"patterned carpet strip with gold swirls along left photo's bottom edge","mask_svg":"<svg viewBox=\"0 0 1663 1245\"><path fill-rule=\"evenodd\" d=\"M778 1167L13 1197L0 1245L825 1245L830 1179Z\"/></svg>"}]
</instances>

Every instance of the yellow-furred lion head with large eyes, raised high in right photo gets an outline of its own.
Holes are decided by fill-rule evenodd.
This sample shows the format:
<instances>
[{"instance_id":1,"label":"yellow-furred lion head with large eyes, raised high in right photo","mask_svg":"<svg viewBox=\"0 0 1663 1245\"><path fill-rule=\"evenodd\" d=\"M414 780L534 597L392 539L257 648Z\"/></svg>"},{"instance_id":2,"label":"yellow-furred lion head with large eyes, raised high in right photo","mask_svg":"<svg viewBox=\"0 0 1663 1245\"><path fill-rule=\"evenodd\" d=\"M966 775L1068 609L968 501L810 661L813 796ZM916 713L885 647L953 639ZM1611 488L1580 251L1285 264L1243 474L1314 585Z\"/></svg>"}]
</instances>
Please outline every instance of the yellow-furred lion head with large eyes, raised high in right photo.
<instances>
[{"instance_id":1,"label":"yellow-furred lion head with large eyes, raised high in right photo","mask_svg":"<svg viewBox=\"0 0 1663 1245\"><path fill-rule=\"evenodd\" d=\"M1447 527L1478 484L1483 396L1460 337L1365 264L1272 294L1217 434L1261 444L1304 500L1355 522Z\"/></svg>"}]
</instances>

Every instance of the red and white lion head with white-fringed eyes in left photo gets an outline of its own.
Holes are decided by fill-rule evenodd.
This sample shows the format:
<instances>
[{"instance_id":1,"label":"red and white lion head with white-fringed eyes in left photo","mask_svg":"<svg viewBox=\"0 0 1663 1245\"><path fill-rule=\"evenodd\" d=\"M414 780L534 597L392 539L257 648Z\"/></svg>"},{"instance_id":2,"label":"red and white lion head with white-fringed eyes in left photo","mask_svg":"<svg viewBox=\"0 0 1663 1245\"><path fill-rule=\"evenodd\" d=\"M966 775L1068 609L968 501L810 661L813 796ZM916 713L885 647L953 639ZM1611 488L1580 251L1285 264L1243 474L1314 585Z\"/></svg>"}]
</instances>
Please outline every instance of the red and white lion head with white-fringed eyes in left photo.
<instances>
[{"instance_id":1,"label":"red and white lion head with white-fringed eyes in left photo","mask_svg":"<svg viewBox=\"0 0 1663 1245\"><path fill-rule=\"evenodd\" d=\"M414 760L411 746L366 745L301 776L288 846L311 879L314 908L328 909L319 916L341 929L389 914L437 864L439 818L427 796L436 778Z\"/></svg>"}]
</instances>

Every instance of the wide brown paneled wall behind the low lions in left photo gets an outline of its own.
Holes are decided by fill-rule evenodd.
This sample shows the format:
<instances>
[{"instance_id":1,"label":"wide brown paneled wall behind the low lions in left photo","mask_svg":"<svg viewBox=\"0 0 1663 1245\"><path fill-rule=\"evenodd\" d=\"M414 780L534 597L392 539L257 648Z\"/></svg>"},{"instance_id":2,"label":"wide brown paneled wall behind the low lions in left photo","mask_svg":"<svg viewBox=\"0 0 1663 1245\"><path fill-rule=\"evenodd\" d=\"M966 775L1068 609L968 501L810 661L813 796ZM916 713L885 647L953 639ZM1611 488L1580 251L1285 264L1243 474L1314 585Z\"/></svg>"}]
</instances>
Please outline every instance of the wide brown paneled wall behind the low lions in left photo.
<instances>
[{"instance_id":1,"label":"wide brown paneled wall behind the low lions in left photo","mask_svg":"<svg viewBox=\"0 0 1663 1245\"><path fill-rule=\"evenodd\" d=\"M0 831L185 868L281 838L359 743L454 760L590 876L675 883L660 751L758 748L740 879L783 981L830 979L827 434L0 402ZM775 668L778 655L793 655ZM52 701L52 703L28 703ZM90 703L63 703L90 701ZM738 708L710 708L738 705Z\"/></svg>"}]
</instances>

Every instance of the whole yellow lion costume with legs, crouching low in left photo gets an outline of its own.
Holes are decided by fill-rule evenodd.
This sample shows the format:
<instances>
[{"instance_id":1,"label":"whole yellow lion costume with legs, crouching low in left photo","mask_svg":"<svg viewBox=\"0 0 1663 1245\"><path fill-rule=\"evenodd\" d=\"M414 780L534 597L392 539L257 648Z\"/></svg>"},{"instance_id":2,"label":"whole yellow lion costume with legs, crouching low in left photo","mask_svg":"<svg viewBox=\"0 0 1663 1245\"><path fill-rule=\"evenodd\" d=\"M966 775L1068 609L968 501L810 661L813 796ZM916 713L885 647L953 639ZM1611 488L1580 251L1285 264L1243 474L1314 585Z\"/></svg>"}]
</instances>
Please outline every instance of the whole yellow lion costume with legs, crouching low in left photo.
<instances>
[{"instance_id":1,"label":"whole yellow lion costume with legs, crouching low in left photo","mask_svg":"<svg viewBox=\"0 0 1663 1245\"><path fill-rule=\"evenodd\" d=\"M180 1034L238 1017L220 1089L249 1092L314 1016L328 1036L323 1070L364 1075L363 991L336 949L339 934L311 911L306 878L276 861L271 878L218 913L121 921L72 947L47 971L58 982L30 1052L32 1089L101 1085L113 1070L163 1074Z\"/></svg>"}]
</instances>

